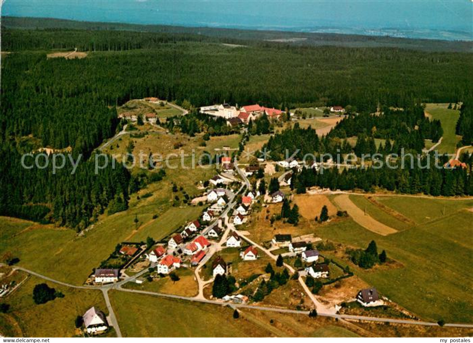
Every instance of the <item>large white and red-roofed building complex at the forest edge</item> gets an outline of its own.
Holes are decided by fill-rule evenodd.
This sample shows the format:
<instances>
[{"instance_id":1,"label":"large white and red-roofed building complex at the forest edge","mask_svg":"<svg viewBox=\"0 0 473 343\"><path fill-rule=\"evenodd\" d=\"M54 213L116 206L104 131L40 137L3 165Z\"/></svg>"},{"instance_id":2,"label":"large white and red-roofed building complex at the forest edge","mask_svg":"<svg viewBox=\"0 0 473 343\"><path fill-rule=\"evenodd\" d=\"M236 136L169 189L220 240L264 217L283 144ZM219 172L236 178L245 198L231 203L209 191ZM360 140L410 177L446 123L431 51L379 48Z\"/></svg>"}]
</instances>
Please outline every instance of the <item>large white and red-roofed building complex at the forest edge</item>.
<instances>
[{"instance_id":1,"label":"large white and red-roofed building complex at the forest edge","mask_svg":"<svg viewBox=\"0 0 473 343\"><path fill-rule=\"evenodd\" d=\"M279 119L283 113L281 110L260 106L259 104L238 107L238 104L231 106L228 103L202 106L200 111L214 117L224 118L227 120L227 124L232 127L248 124L250 120L255 120L263 114L270 119Z\"/></svg>"}]
</instances>

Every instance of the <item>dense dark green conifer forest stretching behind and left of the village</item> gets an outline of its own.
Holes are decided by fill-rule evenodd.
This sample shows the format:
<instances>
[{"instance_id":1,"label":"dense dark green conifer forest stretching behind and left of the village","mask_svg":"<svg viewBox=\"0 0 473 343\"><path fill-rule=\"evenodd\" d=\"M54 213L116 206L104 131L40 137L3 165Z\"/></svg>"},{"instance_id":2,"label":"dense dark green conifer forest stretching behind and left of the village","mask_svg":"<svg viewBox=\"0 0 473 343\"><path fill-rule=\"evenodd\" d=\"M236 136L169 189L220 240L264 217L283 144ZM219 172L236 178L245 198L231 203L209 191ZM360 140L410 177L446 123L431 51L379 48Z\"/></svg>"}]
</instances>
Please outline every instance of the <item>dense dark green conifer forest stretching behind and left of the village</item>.
<instances>
[{"instance_id":1,"label":"dense dark green conifer forest stretching behind and left of the village","mask_svg":"<svg viewBox=\"0 0 473 343\"><path fill-rule=\"evenodd\" d=\"M369 112L378 103L394 107L455 103L471 94L471 79L464 72L471 68L467 53L269 42L229 47L212 42L213 38L189 34L2 30L2 47L13 53L3 56L1 63L1 214L45 218L81 229L107 208L111 213L126 208L137 179L130 181L121 168L105 169L96 176L91 162L85 160L117 131L115 106L131 99L156 96L194 106L226 101L281 109L350 104ZM46 58L51 48L74 47L88 51L88 56ZM462 120L467 117L462 114ZM368 119L365 128L377 126L374 134L367 131L371 147L372 137L396 134L378 119ZM200 132L202 122L214 134L228 129L218 120L209 122L196 114L180 125L192 134ZM413 122L421 127L417 130L421 137L413 141L438 136L436 124L418 122L417 116L407 120L408 131ZM263 119L250 130L267 133L268 124ZM293 143L312 151L342 146L338 137L319 142L313 134L307 130L304 140ZM276 144L275 139L271 144ZM418 142L412 143L413 149L419 149ZM321 147L316 146L319 143ZM84 154L84 163L72 176L70 169L56 175L50 168L23 169L20 154L41 146L70 146L73 154Z\"/></svg>"}]
</instances>

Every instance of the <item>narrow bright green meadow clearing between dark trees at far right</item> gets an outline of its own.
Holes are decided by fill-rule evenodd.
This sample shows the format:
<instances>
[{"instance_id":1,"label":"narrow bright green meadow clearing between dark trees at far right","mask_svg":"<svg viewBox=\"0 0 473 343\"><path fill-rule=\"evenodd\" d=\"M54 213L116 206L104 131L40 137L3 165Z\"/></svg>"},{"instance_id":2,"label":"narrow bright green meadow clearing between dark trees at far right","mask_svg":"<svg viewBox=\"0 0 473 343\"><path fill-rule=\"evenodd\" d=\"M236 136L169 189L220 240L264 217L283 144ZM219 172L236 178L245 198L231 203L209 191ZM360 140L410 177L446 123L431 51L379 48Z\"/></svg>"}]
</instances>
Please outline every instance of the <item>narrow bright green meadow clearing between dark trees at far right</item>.
<instances>
[{"instance_id":1,"label":"narrow bright green meadow clearing between dark trees at far right","mask_svg":"<svg viewBox=\"0 0 473 343\"><path fill-rule=\"evenodd\" d=\"M447 103L428 103L425 111L432 119L440 120L444 130L442 143L437 147L438 152L453 154L456 151L456 144L460 141L460 136L455 135L455 125L460 111L449 110L447 106Z\"/></svg>"}]
</instances>

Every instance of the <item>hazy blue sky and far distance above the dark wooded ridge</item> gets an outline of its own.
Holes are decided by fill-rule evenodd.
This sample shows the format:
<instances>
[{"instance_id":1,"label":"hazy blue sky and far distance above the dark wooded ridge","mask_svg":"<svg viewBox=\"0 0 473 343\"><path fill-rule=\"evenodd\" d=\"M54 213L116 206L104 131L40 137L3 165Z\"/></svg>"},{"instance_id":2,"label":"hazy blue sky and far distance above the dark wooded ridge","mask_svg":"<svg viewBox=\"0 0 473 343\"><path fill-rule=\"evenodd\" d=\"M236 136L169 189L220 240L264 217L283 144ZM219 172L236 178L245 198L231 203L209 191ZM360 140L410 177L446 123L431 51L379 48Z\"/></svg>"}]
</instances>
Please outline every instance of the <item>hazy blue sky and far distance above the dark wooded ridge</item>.
<instances>
[{"instance_id":1,"label":"hazy blue sky and far distance above the dark wooded ridge","mask_svg":"<svg viewBox=\"0 0 473 343\"><path fill-rule=\"evenodd\" d=\"M473 41L473 3L467 0L6 0L1 15L114 24Z\"/></svg>"}]
</instances>

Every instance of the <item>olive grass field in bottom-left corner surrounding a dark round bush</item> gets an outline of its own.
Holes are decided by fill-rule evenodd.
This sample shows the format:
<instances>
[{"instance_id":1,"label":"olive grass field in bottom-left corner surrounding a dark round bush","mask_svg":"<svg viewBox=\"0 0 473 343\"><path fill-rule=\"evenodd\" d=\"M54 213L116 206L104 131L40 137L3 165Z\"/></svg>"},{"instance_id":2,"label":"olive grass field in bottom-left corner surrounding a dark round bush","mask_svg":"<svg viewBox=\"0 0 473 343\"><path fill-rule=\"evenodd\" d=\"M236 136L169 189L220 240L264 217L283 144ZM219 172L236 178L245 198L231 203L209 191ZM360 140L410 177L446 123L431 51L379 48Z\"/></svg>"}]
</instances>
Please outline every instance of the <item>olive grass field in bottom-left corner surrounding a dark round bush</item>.
<instances>
[{"instance_id":1,"label":"olive grass field in bottom-left corner surrounding a dark round bush","mask_svg":"<svg viewBox=\"0 0 473 343\"><path fill-rule=\"evenodd\" d=\"M64 294L42 305L33 301L33 288L42 279L30 277L17 291L5 300L10 305L7 314L0 314L0 333L5 336L24 337L72 337L75 335L74 320L90 307L96 306L107 314L102 292L77 290L55 283L48 283Z\"/></svg>"}]
</instances>

